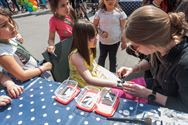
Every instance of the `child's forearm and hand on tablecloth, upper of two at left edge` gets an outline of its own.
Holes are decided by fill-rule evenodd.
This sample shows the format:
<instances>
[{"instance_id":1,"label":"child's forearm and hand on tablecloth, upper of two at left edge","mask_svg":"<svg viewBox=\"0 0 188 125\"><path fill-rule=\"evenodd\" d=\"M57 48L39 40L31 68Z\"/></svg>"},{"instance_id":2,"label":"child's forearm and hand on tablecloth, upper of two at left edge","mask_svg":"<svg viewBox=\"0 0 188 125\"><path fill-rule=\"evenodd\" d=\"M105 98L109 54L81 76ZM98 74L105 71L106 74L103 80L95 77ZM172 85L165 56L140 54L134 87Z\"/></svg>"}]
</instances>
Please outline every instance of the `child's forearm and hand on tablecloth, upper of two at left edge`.
<instances>
[{"instance_id":1,"label":"child's forearm and hand on tablecloth, upper of two at left edge","mask_svg":"<svg viewBox=\"0 0 188 125\"><path fill-rule=\"evenodd\" d=\"M17 98L23 93L23 87L16 85L8 76L1 75L1 84L7 88L8 95L12 98Z\"/></svg>"}]
</instances>

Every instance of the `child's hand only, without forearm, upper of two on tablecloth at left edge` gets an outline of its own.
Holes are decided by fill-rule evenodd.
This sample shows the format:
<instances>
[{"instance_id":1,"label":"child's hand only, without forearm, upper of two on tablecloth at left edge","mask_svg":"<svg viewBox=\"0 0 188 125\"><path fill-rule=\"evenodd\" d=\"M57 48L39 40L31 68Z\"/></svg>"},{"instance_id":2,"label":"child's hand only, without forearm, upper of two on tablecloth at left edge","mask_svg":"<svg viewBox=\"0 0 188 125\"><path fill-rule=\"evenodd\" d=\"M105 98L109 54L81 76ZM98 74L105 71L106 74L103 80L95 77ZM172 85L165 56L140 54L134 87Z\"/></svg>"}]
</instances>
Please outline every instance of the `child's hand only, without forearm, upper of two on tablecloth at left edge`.
<instances>
[{"instance_id":1,"label":"child's hand only, without forearm, upper of two on tablecloth at left edge","mask_svg":"<svg viewBox=\"0 0 188 125\"><path fill-rule=\"evenodd\" d=\"M24 91L22 86L16 84L7 84L6 88L8 91L8 95L12 98L17 98Z\"/></svg>"}]
</instances>

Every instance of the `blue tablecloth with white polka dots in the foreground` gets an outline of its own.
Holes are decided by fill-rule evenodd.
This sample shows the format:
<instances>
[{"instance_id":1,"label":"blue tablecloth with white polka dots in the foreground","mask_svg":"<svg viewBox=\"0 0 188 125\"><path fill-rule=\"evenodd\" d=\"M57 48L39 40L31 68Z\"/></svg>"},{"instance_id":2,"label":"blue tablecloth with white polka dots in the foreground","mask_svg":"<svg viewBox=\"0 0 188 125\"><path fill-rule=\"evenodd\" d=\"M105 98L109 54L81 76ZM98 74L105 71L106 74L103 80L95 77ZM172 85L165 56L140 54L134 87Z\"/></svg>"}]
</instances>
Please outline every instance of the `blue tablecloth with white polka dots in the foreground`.
<instances>
[{"instance_id":1,"label":"blue tablecloth with white polka dots in the foreground","mask_svg":"<svg viewBox=\"0 0 188 125\"><path fill-rule=\"evenodd\" d=\"M25 92L18 99L13 99L10 105L0 108L0 125L130 125L130 123L108 121L94 112L81 111L76 108L75 100L68 105L56 102L54 91L59 86L57 82L38 77L23 85ZM5 94L5 90L2 89L0 95L3 94ZM185 116L185 123L181 121L181 125L188 124L186 119L188 115L186 116L184 113L126 99L120 100L120 105L113 117L143 118L150 115L155 119L158 119L159 116L166 119L167 113L165 112L176 114L178 120L182 119L180 116Z\"/></svg>"}]
</instances>

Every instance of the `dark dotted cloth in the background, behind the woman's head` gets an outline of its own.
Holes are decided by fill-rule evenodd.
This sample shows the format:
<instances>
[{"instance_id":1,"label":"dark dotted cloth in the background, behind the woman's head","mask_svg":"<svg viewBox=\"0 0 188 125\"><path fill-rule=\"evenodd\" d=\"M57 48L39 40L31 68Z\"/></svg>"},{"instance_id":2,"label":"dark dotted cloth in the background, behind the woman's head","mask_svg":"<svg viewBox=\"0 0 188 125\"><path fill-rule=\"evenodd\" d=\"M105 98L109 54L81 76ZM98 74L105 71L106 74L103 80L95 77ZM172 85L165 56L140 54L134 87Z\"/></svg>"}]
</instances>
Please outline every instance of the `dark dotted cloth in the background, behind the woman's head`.
<instances>
[{"instance_id":1,"label":"dark dotted cloth in the background, behind the woman's head","mask_svg":"<svg viewBox=\"0 0 188 125\"><path fill-rule=\"evenodd\" d=\"M120 0L119 5L127 16L129 16L135 9L142 5L142 0Z\"/></svg>"}]
</instances>

